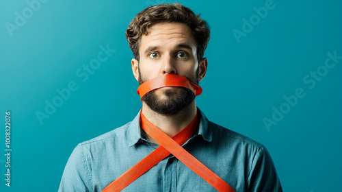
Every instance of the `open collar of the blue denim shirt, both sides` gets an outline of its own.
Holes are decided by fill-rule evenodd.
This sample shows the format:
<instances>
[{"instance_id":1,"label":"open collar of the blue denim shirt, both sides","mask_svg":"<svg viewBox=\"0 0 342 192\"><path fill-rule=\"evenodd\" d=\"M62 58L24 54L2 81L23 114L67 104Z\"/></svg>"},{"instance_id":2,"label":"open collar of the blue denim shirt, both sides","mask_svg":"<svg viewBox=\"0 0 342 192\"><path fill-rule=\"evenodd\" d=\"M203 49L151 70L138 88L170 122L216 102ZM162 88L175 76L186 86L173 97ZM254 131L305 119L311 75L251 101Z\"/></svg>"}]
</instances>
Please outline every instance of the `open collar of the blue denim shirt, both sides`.
<instances>
[{"instance_id":1,"label":"open collar of the blue denim shirt, both sides","mask_svg":"<svg viewBox=\"0 0 342 192\"><path fill-rule=\"evenodd\" d=\"M209 141L211 142L213 140L213 132L211 129L211 123L210 121L207 119L207 117L205 117L205 114L199 109L198 110L198 115L200 118L200 125L198 128L198 132L195 133L195 136L202 136L202 138L205 141ZM140 143L143 139L143 134L142 134L142 129L140 128L140 110L137 113L137 116L135 116L135 118L133 119L133 121L131 121L129 128L127 129L127 139L129 141L129 147Z\"/></svg>"}]
</instances>

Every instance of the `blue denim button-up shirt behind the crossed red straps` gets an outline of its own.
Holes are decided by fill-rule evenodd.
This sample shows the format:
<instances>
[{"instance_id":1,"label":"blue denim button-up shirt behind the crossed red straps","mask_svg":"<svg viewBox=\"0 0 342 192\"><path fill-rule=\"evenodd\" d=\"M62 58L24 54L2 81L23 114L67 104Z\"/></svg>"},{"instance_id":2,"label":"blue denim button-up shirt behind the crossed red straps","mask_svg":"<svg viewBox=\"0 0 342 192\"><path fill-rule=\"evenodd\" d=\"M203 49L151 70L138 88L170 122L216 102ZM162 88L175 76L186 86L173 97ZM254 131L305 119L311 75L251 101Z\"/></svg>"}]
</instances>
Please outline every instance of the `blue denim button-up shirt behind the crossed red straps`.
<instances>
[{"instance_id":1,"label":"blue denim button-up shirt behind the crossed red straps","mask_svg":"<svg viewBox=\"0 0 342 192\"><path fill-rule=\"evenodd\" d=\"M198 131L182 146L235 191L282 191L267 149L209 121L198 109ZM144 136L140 112L133 121L79 143L68 159L59 191L102 191L159 147ZM122 191L216 191L177 158L161 160Z\"/></svg>"}]
</instances>

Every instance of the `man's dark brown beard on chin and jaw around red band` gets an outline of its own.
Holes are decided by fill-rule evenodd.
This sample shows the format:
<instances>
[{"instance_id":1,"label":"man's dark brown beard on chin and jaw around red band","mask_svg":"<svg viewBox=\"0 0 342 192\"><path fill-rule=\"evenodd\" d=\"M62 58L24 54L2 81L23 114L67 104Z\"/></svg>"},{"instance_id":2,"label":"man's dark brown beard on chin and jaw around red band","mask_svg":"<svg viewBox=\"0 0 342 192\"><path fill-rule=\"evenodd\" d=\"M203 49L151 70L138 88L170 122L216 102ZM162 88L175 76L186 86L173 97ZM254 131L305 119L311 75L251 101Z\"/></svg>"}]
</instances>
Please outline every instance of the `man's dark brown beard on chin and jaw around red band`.
<instances>
[{"instance_id":1,"label":"man's dark brown beard on chin and jaw around red band","mask_svg":"<svg viewBox=\"0 0 342 192\"><path fill-rule=\"evenodd\" d=\"M138 67L139 71L139 84L143 84L146 82L142 77L142 73L140 73L140 67ZM187 77L187 80L198 85L198 73L199 67L196 70L193 77ZM146 103L146 105L151 108L153 111L158 112L161 115L174 115L189 106L195 99L195 94L189 89L185 87L179 87L180 90L168 89L163 91L163 94L166 95L167 99L160 99L159 96L155 93L155 90L150 91L142 97L142 101Z\"/></svg>"}]
</instances>

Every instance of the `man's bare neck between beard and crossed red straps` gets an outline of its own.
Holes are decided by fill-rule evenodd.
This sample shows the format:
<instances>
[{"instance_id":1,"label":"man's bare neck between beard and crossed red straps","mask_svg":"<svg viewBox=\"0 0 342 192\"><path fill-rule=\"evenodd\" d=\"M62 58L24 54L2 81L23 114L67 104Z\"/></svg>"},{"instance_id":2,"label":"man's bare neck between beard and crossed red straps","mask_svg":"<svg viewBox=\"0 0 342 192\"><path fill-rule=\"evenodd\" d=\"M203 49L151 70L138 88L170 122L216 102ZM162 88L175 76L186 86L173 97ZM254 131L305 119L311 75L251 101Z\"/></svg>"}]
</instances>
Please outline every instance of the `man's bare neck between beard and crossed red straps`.
<instances>
[{"instance_id":1,"label":"man's bare neck between beard and crossed red straps","mask_svg":"<svg viewBox=\"0 0 342 192\"><path fill-rule=\"evenodd\" d=\"M142 113L153 125L172 137L181 132L196 117L196 101L192 101L189 106L185 107L181 112L174 115L161 115L150 109L144 102L142 104ZM146 134L149 141L157 143L152 137ZM159 145L159 143L157 143Z\"/></svg>"}]
</instances>

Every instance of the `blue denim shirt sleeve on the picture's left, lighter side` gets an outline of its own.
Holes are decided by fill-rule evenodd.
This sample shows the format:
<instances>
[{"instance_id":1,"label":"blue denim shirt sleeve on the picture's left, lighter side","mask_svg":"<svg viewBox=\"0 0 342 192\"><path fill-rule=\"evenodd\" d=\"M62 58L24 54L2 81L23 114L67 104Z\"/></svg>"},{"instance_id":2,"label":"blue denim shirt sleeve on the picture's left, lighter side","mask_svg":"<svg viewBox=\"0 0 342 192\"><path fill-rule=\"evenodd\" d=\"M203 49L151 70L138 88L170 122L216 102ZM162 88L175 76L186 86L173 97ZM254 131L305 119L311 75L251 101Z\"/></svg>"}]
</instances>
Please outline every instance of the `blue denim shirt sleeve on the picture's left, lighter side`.
<instances>
[{"instance_id":1,"label":"blue denim shirt sleeve on the picture's left, lighter side","mask_svg":"<svg viewBox=\"0 0 342 192\"><path fill-rule=\"evenodd\" d=\"M90 167L86 164L83 147L77 145L64 169L58 192L92 191Z\"/></svg>"}]
</instances>

